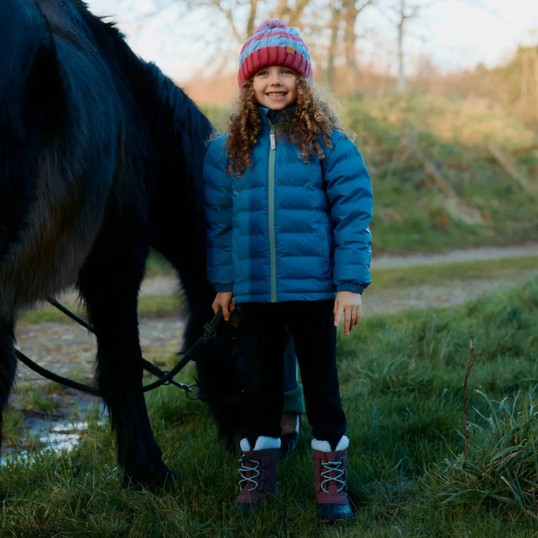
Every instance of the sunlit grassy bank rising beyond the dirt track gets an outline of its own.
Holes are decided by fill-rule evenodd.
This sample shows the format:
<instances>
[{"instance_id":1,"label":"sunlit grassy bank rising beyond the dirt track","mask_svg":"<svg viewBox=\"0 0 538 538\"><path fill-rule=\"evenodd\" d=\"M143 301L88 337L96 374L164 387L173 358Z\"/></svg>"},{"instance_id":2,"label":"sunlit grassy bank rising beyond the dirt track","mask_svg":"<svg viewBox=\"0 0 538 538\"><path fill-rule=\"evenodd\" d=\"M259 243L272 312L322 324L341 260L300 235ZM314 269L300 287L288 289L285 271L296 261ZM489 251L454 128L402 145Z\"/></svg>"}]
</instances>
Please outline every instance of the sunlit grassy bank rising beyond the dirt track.
<instances>
[{"instance_id":1,"label":"sunlit grassy bank rising beyond the dirt track","mask_svg":"<svg viewBox=\"0 0 538 538\"><path fill-rule=\"evenodd\" d=\"M464 246L526 242L536 237L535 196L508 175L486 148L528 147L536 133L518 119L478 100L433 95L365 94L341 101L339 114L358 134L356 144L371 171L377 252L434 252ZM222 110L206 114L224 128ZM415 154L419 147L465 206L482 224L466 224L445 204L446 196L429 181ZM538 174L538 152L515 159L531 182Z\"/></svg>"}]
</instances>

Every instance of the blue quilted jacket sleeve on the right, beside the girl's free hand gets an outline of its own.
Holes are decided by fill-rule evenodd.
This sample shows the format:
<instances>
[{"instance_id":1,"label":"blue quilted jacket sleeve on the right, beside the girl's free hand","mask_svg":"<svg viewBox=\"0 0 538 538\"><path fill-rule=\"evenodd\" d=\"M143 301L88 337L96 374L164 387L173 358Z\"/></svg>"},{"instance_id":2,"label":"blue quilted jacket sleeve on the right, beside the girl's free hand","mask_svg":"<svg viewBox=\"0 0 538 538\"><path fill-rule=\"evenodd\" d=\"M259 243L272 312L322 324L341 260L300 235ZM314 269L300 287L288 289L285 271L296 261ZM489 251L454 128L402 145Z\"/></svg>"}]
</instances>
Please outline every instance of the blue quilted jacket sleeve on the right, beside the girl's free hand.
<instances>
[{"instance_id":1,"label":"blue quilted jacket sleeve on the right, beside the girl's free hand","mask_svg":"<svg viewBox=\"0 0 538 538\"><path fill-rule=\"evenodd\" d=\"M333 282L337 292L362 293L371 282L372 182L362 155L348 137L335 131L332 145L321 162L334 224Z\"/></svg>"}]
</instances>

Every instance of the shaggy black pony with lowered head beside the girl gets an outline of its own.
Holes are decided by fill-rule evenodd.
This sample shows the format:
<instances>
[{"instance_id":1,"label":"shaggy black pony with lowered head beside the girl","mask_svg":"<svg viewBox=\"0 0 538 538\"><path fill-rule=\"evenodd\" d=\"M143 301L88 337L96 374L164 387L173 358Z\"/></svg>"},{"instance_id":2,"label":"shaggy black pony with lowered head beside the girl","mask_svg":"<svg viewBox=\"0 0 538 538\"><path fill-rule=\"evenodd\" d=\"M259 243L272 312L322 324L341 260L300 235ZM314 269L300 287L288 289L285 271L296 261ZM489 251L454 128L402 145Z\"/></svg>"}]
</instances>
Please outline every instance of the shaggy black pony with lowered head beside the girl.
<instances>
[{"instance_id":1,"label":"shaggy black pony with lowered head beside the girl","mask_svg":"<svg viewBox=\"0 0 538 538\"><path fill-rule=\"evenodd\" d=\"M141 392L137 297L153 247L185 291L187 348L213 316L201 203L212 126L81 0L3 0L0 66L0 413L15 377L17 313L76 284L119 463L133 481L160 483L172 471ZM225 384L239 394L232 362L226 345L199 361L205 393ZM211 410L230 438L236 399Z\"/></svg>"}]
</instances>

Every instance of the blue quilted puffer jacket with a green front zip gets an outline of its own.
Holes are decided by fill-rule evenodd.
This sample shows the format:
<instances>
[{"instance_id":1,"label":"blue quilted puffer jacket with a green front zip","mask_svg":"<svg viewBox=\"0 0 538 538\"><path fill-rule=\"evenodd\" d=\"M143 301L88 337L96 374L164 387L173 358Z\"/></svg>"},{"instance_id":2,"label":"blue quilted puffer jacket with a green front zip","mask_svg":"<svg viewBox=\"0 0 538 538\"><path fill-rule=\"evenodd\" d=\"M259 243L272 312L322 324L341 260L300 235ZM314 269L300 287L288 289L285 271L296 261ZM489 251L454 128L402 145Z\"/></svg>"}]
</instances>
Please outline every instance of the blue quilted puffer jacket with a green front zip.
<instances>
[{"instance_id":1,"label":"blue quilted puffer jacket with a green front zip","mask_svg":"<svg viewBox=\"0 0 538 538\"><path fill-rule=\"evenodd\" d=\"M260 107L253 166L226 174L226 133L204 162L208 278L236 303L334 299L370 284L373 194L357 147L332 133L325 158L307 164L274 137L274 115ZM278 116L277 116L278 121Z\"/></svg>"}]
</instances>

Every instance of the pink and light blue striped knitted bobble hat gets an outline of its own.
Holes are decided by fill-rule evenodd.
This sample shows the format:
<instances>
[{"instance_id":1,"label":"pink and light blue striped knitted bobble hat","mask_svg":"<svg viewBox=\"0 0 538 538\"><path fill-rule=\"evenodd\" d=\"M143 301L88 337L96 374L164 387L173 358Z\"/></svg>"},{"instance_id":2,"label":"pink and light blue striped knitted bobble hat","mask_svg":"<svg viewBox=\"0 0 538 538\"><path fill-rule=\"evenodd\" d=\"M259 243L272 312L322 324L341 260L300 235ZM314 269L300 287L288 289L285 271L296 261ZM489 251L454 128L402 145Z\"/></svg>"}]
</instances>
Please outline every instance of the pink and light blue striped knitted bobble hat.
<instances>
[{"instance_id":1,"label":"pink and light blue striped knitted bobble hat","mask_svg":"<svg viewBox=\"0 0 538 538\"><path fill-rule=\"evenodd\" d=\"M239 55L239 87L260 69L285 66L312 79L312 63L299 32L279 19L267 19L247 39Z\"/></svg>"}]
</instances>

